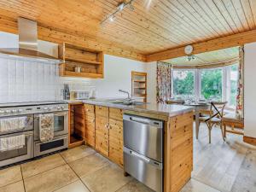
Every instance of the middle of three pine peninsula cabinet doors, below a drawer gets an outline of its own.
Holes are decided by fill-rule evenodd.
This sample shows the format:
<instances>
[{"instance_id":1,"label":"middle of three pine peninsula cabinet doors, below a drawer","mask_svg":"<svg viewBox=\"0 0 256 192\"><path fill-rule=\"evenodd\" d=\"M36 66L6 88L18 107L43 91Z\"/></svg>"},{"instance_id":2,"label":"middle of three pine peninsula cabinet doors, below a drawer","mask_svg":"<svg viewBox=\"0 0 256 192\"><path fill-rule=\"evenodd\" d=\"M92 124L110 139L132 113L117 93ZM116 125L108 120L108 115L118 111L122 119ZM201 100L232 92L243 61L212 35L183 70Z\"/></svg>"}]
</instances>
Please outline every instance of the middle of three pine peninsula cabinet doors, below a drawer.
<instances>
[{"instance_id":1,"label":"middle of three pine peninsula cabinet doors, below a drawer","mask_svg":"<svg viewBox=\"0 0 256 192\"><path fill-rule=\"evenodd\" d=\"M108 157L108 117L96 115L96 150Z\"/></svg>"}]
</instances>

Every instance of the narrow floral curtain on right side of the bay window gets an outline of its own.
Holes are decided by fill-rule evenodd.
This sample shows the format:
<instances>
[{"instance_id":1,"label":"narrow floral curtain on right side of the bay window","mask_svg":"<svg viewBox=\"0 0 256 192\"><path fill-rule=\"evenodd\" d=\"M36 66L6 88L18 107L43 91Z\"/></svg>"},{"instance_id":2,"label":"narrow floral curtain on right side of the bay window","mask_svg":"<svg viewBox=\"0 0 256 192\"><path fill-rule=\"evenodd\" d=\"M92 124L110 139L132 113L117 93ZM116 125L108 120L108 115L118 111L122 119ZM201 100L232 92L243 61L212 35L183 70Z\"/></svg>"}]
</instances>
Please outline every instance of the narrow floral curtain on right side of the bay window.
<instances>
[{"instance_id":1,"label":"narrow floral curtain on right side of the bay window","mask_svg":"<svg viewBox=\"0 0 256 192\"><path fill-rule=\"evenodd\" d=\"M236 96L236 118L243 118L243 67L244 67L244 49L239 48L239 67L238 67L238 82Z\"/></svg>"}]
</instances>

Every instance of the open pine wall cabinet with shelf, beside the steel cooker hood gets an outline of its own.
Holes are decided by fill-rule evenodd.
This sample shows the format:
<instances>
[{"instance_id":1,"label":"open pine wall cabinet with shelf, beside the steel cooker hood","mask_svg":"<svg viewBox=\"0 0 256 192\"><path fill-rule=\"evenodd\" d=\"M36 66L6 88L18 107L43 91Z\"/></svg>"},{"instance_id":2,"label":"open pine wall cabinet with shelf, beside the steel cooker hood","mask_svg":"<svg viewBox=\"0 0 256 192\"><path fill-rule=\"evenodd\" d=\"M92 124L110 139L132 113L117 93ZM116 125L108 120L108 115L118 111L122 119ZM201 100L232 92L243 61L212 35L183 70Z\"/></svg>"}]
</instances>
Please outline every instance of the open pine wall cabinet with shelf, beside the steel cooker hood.
<instances>
[{"instance_id":1,"label":"open pine wall cabinet with shelf, beside the steel cooker hood","mask_svg":"<svg viewBox=\"0 0 256 192\"><path fill-rule=\"evenodd\" d=\"M59 58L63 60L59 67L62 77L98 79L104 76L102 51L63 43L59 45ZM76 72L76 67L80 67L81 72Z\"/></svg>"}]
</instances>

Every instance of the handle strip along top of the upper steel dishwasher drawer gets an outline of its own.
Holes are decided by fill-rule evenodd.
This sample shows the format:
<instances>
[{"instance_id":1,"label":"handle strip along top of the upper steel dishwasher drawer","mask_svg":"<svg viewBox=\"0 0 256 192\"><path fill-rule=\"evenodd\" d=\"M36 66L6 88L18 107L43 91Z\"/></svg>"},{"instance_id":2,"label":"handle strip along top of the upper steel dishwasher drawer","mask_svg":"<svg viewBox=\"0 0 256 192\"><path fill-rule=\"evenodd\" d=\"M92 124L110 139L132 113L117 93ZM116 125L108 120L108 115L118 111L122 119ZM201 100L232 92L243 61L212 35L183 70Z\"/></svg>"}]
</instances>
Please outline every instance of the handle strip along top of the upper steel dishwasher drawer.
<instances>
[{"instance_id":1,"label":"handle strip along top of the upper steel dishwasher drawer","mask_svg":"<svg viewBox=\"0 0 256 192\"><path fill-rule=\"evenodd\" d=\"M163 121L124 114L123 120L163 128Z\"/></svg>"}]
</instances>

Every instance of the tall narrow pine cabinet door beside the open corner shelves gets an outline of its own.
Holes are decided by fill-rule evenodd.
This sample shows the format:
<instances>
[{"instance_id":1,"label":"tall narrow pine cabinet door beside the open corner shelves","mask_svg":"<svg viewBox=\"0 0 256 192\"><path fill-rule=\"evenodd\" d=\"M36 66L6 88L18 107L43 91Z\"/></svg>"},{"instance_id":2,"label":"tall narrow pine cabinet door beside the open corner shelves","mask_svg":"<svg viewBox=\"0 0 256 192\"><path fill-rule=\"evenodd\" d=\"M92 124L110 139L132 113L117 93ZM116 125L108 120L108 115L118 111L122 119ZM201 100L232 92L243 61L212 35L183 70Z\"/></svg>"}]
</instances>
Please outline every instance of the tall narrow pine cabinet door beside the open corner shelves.
<instances>
[{"instance_id":1,"label":"tall narrow pine cabinet door beside the open corner shelves","mask_svg":"<svg viewBox=\"0 0 256 192\"><path fill-rule=\"evenodd\" d=\"M95 110L94 105L84 104L84 139L85 143L95 148Z\"/></svg>"}]
</instances>

